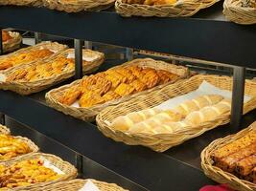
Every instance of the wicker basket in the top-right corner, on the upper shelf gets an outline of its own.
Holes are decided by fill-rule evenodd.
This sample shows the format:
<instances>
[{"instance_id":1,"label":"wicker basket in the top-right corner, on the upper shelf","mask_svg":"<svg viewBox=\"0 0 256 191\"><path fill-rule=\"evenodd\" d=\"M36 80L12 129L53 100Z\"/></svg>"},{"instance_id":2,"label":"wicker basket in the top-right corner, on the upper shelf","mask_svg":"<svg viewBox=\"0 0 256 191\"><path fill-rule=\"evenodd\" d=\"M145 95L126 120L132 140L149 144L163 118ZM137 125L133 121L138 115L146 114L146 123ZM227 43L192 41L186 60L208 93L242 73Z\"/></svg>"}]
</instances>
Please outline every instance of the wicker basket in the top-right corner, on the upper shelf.
<instances>
[{"instance_id":1,"label":"wicker basket in the top-right corner, on the upper shelf","mask_svg":"<svg viewBox=\"0 0 256 191\"><path fill-rule=\"evenodd\" d=\"M256 24L256 6L252 7L249 4L250 1L225 0L223 13L227 19L235 23L244 25Z\"/></svg>"}]
</instances>

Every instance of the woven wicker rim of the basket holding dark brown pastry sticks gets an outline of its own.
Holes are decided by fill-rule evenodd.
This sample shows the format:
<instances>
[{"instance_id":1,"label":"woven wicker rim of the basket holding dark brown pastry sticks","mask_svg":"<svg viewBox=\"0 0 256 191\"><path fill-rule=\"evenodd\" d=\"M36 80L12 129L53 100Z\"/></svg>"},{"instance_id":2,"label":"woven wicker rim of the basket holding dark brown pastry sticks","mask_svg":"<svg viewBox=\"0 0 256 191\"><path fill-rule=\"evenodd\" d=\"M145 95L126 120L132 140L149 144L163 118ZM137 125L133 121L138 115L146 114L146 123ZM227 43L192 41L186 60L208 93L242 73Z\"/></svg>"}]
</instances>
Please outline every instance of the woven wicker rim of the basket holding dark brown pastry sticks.
<instances>
[{"instance_id":1,"label":"woven wicker rim of the basket holding dark brown pastry sticks","mask_svg":"<svg viewBox=\"0 0 256 191\"><path fill-rule=\"evenodd\" d=\"M236 187L236 186L232 186L235 189L244 189L244 190L251 190L253 191L254 189L256 189L256 184L252 183L250 181L247 180L241 180L238 177L236 177L235 175L225 172L223 171L221 168L214 166L213 165L213 161L210 158L211 154L213 152L215 152L218 148L233 142L234 140L238 139L238 138L242 138L244 137L244 135L248 134L251 131L256 131L256 121L253 122L252 124L250 124L247 128L245 128L244 130L233 134L233 135L229 135L226 136L224 138L218 138L214 141L212 141L207 147L205 147L203 149L203 151L201 152L201 166L204 170L204 172L209 175L209 177L211 178L211 172L208 171L214 171L214 173L217 173L218 175L221 175L223 180L227 180L228 183L230 181L234 181L234 184L241 184L244 188L241 187ZM210 170L209 170L210 169Z\"/></svg>"}]
</instances>

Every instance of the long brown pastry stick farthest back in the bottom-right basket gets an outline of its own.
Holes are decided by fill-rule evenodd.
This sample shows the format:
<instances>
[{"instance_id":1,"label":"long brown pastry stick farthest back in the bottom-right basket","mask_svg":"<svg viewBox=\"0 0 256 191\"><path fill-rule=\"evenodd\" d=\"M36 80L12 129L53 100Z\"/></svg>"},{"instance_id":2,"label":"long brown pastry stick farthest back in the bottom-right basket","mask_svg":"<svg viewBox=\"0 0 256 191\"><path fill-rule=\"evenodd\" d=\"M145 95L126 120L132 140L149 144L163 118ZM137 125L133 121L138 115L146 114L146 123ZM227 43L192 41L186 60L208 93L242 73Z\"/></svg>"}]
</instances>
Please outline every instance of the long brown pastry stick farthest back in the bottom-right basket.
<instances>
[{"instance_id":1,"label":"long brown pastry stick farthest back in the bottom-right basket","mask_svg":"<svg viewBox=\"0 0 256 191\"><path fill-rule=\"evenodd\" d=\"M218 161L222 158L246 148L247 146L253 144L255 141L256 131L252 131L243 138L234 140L233 142L219 148L215 153L212 154L211 158L214 160L215 163L218 163Z\"/></svg>"}]
</instances>

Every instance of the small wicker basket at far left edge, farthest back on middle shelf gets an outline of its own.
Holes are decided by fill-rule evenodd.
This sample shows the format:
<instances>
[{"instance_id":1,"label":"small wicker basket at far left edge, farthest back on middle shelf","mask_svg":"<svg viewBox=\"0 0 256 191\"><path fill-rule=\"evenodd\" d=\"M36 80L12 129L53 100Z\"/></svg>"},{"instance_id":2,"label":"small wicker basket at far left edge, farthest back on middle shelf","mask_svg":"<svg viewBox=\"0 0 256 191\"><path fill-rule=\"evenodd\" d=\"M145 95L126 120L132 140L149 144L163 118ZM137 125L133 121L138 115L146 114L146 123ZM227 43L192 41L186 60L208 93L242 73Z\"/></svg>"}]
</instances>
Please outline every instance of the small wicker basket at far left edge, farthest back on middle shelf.
<instances>
[{"instance_id":1,"label":"small wicker basket at far left edge, farthest back on middle shelf","mask_svg":"<svg viewBox=\"0 0 256 191\"><path fill-rule=\"evenodd\" d=\"M4 53L9 53L19 49L20 43L22 42L22 37L19 32L9 32L12 39L3 42Z\"/></svg>"}]
</instances>

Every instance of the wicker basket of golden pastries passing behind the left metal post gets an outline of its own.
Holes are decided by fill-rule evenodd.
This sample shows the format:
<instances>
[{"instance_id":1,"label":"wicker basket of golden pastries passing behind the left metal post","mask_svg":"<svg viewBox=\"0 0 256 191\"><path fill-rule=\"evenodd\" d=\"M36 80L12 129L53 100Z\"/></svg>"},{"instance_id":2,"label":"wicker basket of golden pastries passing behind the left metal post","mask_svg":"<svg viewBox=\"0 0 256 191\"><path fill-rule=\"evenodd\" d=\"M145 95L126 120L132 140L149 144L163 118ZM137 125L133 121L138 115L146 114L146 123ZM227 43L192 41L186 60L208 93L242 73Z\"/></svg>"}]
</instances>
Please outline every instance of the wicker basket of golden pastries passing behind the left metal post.
<instances>
[{"instance_id":1,"label":"wicker basket of golden pastries passing behind the left metal post","mask_svg":"<svg viewBox=\"0 0 256 191\"><path fill-rule=\"evenodd\" d=\"M96 71L105 60L105 54L82 50L83 74ZM20 95L30 95L47 89L75 74L74 49L56 53L32 64L12 67L0 74L0 89Z\"/></svg>"}]
</instances>

